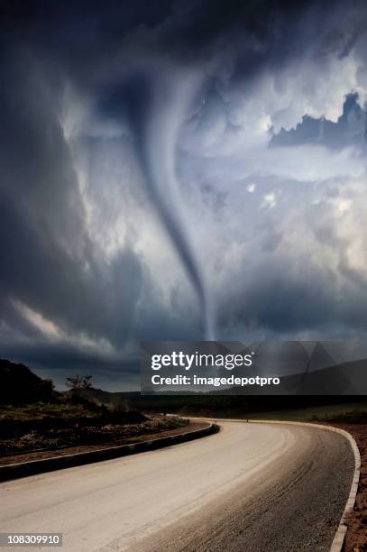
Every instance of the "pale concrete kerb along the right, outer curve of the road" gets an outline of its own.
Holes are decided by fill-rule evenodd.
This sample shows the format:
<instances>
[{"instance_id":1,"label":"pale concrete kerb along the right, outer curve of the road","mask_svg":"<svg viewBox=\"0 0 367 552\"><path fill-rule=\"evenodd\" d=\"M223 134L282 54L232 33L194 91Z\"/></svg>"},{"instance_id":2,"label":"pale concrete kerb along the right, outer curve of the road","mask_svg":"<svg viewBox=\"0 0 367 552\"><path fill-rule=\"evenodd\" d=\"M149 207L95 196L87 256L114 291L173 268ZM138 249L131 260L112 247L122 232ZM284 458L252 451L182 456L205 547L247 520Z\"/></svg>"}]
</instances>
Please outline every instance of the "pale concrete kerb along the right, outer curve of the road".
<instances>
[{"instance_id":1,"label":"pale concrete kerb along the right, outer curve of the road","mask_svg":"<svg viewBox=\"0 0 367 552\"><path fill-rule=\"evenodd\" d=\"M361 454L357 446L357 443L355 442L354 437L344 429L335 428L335 426L324 426L321 424L313 424L310 422L296 422L296 421L270 420L270 419L269 420L249 419L248 422L258 423L258 424L280 424L280 425L303 426L303 427L306 426L308 428L326 429L327 431L333 431L334 433L339 433L340 435L343 435L343 437L345 437L348 440L350 446L352 447L353 455L354 455L353 480L352 480L351 490L349 492L349 496L345 504L344 512L342 514L338 529L336 529L335 537L330 547L330 552L342 552L342 550L344 549L344 539L345 539L346 530L348 529L345 524L345 520L348 514L351 511L353 511L355 499L357 497L357 492L358 492L358 483L359 483L360 474L361 474Z\"/></svg>"}]
</instances>

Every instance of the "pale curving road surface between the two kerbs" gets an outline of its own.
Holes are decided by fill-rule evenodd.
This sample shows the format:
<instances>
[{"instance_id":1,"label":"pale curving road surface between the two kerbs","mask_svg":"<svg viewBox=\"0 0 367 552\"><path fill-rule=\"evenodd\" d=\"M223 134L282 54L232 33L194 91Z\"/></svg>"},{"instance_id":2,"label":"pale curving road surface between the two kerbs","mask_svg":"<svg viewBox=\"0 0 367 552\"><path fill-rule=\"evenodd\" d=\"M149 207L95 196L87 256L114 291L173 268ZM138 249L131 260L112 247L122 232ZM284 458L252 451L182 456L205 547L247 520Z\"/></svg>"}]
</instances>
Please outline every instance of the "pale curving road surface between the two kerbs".
<instances>
[{"instance_id":1,"label":"pale curving road surface between the two kerbs","mask_svg":"<svg viewBox=\"0 0 367 552\"><path fill-rule=\"evenodd\" d=\"M346 439L221 426L187 444L1 483L0 532L61 532L62 549L78 552L328 550L353 476Z\"/></svg>"}]
</instances>

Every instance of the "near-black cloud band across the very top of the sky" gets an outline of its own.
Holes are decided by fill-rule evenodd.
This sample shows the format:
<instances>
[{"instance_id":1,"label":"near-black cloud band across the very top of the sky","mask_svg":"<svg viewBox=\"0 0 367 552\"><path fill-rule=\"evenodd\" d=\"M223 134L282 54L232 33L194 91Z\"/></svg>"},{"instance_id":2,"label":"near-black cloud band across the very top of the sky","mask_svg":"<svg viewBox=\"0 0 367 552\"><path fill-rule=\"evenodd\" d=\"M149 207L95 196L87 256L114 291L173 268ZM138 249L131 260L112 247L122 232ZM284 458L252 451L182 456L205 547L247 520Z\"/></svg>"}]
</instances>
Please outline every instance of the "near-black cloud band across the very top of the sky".
<instances>
[{"instance_id":1,"label":"near-black cloud band across the very top of the sky","mask_svg":"<svg viewBox=\"0 0 367 552\"><path fill-rule=\"evenodd\" d=\"M30 47L81 82L96 82L102 65L114 68L126 48L125 69L156 55L179 63L224 57L234 64L233 79L249 80L305 49L347 55L366 17L362 2L351 5L345 15L338 0L112 0L103 9L100 2L15 1L3 6L3 41Z\"/></svg>"}]
</instances>

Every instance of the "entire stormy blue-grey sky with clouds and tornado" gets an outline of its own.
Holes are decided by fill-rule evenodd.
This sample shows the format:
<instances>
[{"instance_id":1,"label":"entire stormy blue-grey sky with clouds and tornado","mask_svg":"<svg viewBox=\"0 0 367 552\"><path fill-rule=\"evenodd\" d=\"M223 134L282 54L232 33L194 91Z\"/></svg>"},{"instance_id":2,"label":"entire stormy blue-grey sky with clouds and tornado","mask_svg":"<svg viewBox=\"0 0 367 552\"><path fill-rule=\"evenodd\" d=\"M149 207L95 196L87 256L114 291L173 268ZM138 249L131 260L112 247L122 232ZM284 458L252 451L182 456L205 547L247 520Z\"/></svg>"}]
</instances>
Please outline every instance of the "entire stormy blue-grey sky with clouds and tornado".
<instances>
[{"instance_id":1,"label":"entire stormy blue-grey sky with clouds and tornado","mask_svg":"<svg viewBox=\"0 0 367 552\"><path fill-rule=\"evenodd\" d=\"M0 5L0 357L367 334L367 5Z\"/></svg>"}]
</instances>

